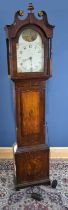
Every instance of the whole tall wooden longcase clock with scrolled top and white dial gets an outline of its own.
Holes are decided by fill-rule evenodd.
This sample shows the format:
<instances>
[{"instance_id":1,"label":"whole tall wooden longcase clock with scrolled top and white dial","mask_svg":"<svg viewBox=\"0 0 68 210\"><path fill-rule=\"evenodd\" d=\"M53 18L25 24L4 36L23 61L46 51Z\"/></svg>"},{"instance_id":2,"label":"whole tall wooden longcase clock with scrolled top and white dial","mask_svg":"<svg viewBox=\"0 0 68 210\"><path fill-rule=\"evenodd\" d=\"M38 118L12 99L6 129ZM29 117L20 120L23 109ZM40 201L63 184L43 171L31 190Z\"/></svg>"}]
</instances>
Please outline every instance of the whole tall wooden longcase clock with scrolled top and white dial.
<instances>
[{"instance_id":1,"label":"whole tall wooden longcase clock with scrolled top and white dial","mask_svg":"<svg viewBox=\"0 0 68 210\"><path fill-rule=\"evenodd\" d=\"M49 147L46 144L45 81L52 76L54 26L47 14L33 13L26 19L17 11L14 23L6 25L8 75L13 81L16 105L14 174L16 187L49 183Z\"/></svg>"}]
</instances>

